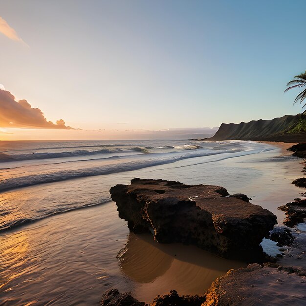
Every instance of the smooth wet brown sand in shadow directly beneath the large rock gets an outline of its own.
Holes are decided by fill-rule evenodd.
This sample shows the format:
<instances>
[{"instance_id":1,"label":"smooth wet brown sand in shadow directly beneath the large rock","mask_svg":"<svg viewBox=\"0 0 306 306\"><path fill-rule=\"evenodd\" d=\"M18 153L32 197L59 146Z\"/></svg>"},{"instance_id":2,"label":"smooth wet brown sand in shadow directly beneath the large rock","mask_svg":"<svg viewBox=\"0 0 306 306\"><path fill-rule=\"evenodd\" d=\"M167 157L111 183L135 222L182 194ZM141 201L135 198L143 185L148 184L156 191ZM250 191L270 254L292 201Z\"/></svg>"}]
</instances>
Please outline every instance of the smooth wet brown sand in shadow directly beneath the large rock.
<instances>
[{"instance_id":1,"label":"smooth wet brown sand in shadow directly beneath the large rock","mask_svg":"<svg viewBox=\"0 0 306 306\"><path fill-rule=\"evenodd\" d=\"M217 277L247 266L247 262L223 259L196 246L160 244L151 234L130 233L123 253L121 269L138 283L134 294L145 302L173 289L202 295Z\"/></svg>"}]
</instances>

